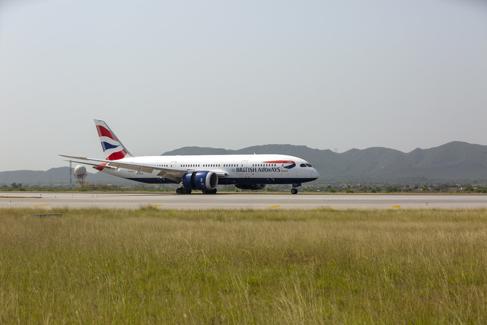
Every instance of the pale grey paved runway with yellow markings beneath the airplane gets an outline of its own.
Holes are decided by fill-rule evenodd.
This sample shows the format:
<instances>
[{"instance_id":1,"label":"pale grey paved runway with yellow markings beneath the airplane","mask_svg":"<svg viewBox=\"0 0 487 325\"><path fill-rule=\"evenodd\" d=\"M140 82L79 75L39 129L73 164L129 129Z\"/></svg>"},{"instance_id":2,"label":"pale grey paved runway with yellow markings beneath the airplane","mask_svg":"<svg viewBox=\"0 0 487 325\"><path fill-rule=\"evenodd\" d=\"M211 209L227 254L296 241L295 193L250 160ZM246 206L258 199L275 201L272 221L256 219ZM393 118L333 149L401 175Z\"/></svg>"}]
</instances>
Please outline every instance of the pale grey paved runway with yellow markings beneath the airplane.
<instances>
[{"instance_id":1,"label":"pale grey paved runway with yellow markings beneath the airplane","mask_svg":"<svg viewBox=\"0 0 487 325\"><path fill-rule=\"evenodd\" d=\"M469 194L201 194L1 192L0 207L139 209L478 209L487 195ZM8 198L6 196L10 196ZM22 196L15 198L15 196ZM38 198L36 198L38 197Z\"/></svg>"}]
</instances>

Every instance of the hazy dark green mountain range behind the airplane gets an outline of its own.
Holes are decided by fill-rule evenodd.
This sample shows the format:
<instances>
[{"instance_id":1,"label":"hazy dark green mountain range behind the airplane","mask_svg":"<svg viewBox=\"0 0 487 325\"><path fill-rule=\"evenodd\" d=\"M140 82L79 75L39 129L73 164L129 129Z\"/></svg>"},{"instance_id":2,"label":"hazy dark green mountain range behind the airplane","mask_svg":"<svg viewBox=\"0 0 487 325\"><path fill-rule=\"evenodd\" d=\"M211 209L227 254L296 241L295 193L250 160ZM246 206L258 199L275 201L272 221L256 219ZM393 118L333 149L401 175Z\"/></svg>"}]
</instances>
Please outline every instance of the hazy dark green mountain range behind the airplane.
<instances>
[{"instance_id":1,"label":"hazy dark green mountain range behind the airplane","mask_svg":"<svg viewBox=\"0 0 487 325\"><path fill-rule=\"evenodd\" d=\"M314 183L485 183L487 181L487 146L453 141L430 149L416 148L410 153L383 147L344 153L311 149L306 146L269 144L239 150L183 147L162 155L186 154L289 154L303 158L315 167L320 177ZM61 181L62 180L62 181ZM104 172L89 173L93 184L133 186L140 183ZM0 172L0 185L11 183L60 185L69 183L69 167L48 171ZM73 183L75 179L73 177Z\"/></svg>"}]
</instances>

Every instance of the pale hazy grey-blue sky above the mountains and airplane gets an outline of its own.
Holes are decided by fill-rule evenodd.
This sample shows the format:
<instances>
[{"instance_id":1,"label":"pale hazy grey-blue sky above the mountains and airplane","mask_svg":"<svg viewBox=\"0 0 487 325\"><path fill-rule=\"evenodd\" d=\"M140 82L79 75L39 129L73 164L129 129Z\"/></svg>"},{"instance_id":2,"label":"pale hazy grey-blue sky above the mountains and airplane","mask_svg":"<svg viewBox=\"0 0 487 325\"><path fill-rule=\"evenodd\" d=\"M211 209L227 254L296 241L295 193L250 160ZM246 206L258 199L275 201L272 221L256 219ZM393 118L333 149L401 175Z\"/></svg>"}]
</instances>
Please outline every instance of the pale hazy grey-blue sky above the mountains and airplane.
<instances>
[{"instance_id":1,"label":"pale hazy grey-blue sky above the mountains and airplane","mask_svg":"<svg viewBox=\"0 0 487 325\"><path fill-rule=\"evenodd\" d=\"M487 145L487 2L0 1L0 171L133 154Z\"/></svg>"}]
</instances>

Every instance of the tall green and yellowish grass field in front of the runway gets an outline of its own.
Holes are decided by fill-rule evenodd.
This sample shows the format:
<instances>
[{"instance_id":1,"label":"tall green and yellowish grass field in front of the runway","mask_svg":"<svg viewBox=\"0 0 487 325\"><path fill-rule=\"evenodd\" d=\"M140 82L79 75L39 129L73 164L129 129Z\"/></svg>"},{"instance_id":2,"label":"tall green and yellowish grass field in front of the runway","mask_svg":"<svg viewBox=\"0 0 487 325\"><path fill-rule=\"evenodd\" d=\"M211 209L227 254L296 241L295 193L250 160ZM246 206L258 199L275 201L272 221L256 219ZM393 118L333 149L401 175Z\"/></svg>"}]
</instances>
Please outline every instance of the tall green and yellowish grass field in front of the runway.
<instances>
[{"instance_id":1,"label":"tall green and yellowish grass field in front of the runway","mask_svg":"<svg viewBox=\"0 0 487 325\"><path fill-rule=\"evenodd\" d=\"M31 213L0 209L1 323L487 323L485 209Z\"/></svg>"}]
</instances>

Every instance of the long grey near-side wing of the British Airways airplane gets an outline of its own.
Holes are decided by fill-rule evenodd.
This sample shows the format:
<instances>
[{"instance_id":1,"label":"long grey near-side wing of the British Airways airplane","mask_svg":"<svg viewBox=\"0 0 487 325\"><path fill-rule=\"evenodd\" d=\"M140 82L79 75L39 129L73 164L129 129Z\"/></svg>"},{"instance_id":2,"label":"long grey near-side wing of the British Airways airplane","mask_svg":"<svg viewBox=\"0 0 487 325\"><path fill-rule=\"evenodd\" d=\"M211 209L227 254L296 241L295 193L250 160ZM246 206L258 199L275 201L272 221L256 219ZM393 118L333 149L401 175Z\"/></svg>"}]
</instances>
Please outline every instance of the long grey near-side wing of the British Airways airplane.
<instances>
[{"instance_id":1,"label":"long grey near-side wing of the British Airways airplane","mask_svg":"<svg viewBox=\"0 0 487 325\"><path fill-rule=\"evenodd\" d=\"M180 181L183 178L183 175L186 174L187 172L199 171L199 170L195 170L195 169L162 167L162 166L156 166L156 165L140 164L140 163L133 163L133 162L118 161L118 160L104 160L104 159L94 159L94 158L86 158L86 157L74 157L74 156L66 156L64 154L59 154L59 155L62 157L66 157L66 158L90 160L90 161L97 161L100 163L105 163L106 165L75 161L76 163L80 163L80 164L87 164L87 165L92 165L92 166L97 166L97 167L102 167L102 168L110 168L112 170L116 170L119 168L133 169L134 171L137 171L137 173L138 172L152 173L153 171L160 171L157 174L157 176L169 178L169 179L172 179L174 181ZM228 175L228 173L222 172L222 171L215 171L215 173L219 177L225 177Z\"/></svg>"}]
</instances>

